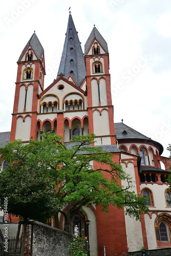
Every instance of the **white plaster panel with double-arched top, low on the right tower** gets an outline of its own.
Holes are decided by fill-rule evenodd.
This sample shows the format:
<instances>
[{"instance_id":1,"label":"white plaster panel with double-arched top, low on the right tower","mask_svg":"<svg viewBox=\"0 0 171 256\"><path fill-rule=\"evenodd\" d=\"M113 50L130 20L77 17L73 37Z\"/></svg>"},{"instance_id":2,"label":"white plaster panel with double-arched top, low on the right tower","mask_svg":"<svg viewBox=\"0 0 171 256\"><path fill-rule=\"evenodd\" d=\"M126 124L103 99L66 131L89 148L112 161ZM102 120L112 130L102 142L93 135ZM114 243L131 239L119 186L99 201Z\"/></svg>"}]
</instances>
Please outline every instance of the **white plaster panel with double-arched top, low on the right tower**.
<instances>
[{"instance_id":1,"label":"white plaster panel with double-arched top, low on the right tower","mask_svg":"<svg viewBox=\"0 0 171 256\"><path fill-rule=\"evenodd\" d=\"M108 111L103 110L101 116L97 110L93 112L93 127L96 136L110 135Z\"/></svg>"}]
</instances>

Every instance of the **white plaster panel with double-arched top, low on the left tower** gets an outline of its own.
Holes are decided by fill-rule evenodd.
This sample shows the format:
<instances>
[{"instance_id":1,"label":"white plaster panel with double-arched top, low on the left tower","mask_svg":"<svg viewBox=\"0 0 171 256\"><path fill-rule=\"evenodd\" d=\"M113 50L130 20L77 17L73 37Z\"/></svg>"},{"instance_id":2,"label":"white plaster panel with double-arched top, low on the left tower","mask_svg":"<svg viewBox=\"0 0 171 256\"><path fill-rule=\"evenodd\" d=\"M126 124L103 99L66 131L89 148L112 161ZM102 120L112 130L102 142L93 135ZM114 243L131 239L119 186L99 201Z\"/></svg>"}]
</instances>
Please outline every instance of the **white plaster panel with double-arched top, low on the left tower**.
<instances>
[{"instance_id":1,"label":"white plaster panel with double-arched top, low on the left tower","mask_svg":"<svg viewBox=\"0 0 171 256\"><path fill-rule=\"evenodd\" d=\"M16 121L15 139L30 140L31 117L27 116L25 122L22 117L18 117Z\"/></svg>"}]
</instances>

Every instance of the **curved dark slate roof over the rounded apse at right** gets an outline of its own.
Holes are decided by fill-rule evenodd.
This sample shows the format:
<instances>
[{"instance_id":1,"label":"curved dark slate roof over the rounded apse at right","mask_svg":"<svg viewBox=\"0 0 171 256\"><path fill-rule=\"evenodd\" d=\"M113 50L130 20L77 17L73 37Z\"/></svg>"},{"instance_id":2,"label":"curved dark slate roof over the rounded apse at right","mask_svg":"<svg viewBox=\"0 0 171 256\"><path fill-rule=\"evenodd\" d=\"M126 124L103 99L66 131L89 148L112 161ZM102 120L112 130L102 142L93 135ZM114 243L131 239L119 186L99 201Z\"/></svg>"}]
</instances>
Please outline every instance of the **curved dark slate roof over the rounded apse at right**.
<instances>
[{"instance_id":1,"label":"curved dark slate roof over the rounded apse at right","mask_svg":"<svg viewBox=\"0 0 171 256\"><path fill-rule=\"evenodd\" d=\"M152 140L151 138L146 137L145 135L137 132L136 130L132 129L131 127L127 126L124 123L114 123L115 125L115 134L117 140L130 140L130 139L142 139L146 140L148 142L151 142L151 144L155 144L159 147L159 154L161 155L163 153L163 146L157 142Z\"/></svg>"}]
</instances>

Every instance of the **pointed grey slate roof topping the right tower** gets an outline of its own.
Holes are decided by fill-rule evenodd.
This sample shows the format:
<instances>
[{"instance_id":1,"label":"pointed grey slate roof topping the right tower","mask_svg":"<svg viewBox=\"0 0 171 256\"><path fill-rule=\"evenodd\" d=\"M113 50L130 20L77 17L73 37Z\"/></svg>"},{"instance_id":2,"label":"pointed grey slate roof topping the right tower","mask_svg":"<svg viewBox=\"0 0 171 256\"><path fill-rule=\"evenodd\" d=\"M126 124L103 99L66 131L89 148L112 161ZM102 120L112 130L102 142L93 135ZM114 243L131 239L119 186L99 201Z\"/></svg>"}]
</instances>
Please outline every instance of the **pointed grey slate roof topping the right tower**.
<instances>
[{"instance_id":1,"label":"pointed grey slate roof topping the right tower","mask_svg":"<svg viewBox=\"0 0 171 256\"><path fill-rule=\"evenodd\" d=\"M84 53L85 54L88 53L94 38L96 38L98 40L98 42L103 47L103 49L106 51L106 53L108 53L108 44L106 43L106 41L104 40L104 38L102 37L102 35L99 33L99 31L96 29L95 26L94 26L92 32L90 33L89 38L87 39L87 42L84 46Z\"/></svg>"}]
</instances>

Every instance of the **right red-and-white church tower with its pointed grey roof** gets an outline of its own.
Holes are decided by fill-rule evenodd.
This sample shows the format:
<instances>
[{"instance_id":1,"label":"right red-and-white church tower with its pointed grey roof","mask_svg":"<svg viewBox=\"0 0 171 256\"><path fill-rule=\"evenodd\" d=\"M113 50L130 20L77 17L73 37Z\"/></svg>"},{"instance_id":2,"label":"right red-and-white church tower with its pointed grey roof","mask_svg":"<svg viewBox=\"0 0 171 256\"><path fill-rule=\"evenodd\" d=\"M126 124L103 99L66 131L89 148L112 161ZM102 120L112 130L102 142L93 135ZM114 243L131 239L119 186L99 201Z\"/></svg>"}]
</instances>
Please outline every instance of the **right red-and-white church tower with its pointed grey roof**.
<instances>
[{"instance_id":1,"label":"right red-and-white church tower with its pointed grey roof","mask_svg":"<svg viewBox=\"0 0 171 256\"><path fill-rule=\"evenodd\" d=\"M98 145L116 144L108 45L95 26L85 44L84 51L89 132L96 135Z\"/></svg>"}]
</instances>

